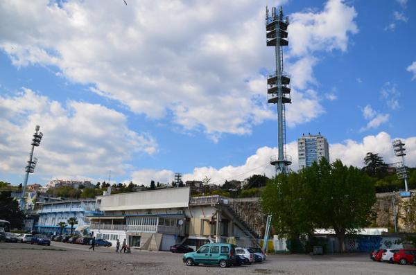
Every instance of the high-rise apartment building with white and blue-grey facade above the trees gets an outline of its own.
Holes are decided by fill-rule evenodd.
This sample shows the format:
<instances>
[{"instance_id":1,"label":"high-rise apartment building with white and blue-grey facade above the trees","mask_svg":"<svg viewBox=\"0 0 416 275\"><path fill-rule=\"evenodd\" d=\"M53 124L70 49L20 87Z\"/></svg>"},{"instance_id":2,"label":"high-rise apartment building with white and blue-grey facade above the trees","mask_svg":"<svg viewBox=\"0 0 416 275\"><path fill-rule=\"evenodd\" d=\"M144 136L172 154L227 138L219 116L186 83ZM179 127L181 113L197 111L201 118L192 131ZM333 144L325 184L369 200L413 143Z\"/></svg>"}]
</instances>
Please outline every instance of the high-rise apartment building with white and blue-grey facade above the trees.
<instances>
[{"instance_id":1,"label":"high-rise apartment building with white and blue-grey facade above the trees","mask_svg":"<svg viewBox=\"0 0 416 275\"><path fill-rule=\"evenodd\" d=\"M329 146L327 139L319 134L308 134L297 139L297 155L299 168L311 166L313 161L319 161L322 157L329 161Z\"/></svg>"}]
</instances>

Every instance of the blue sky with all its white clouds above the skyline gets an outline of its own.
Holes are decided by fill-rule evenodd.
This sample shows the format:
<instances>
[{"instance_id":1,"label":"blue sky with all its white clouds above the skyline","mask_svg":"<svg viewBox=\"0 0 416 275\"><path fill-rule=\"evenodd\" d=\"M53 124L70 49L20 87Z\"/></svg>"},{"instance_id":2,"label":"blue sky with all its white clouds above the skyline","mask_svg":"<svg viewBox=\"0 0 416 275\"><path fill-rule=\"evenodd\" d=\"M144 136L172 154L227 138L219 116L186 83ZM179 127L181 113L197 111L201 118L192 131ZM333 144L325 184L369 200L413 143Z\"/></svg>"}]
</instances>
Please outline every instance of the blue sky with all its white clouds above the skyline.
<instances>
[{"instance_id":1,"label":"blue sky with all its white clouds above the skyline","mask_svg":"<svg viewBox=\"0 0 416 275\"><path fill-rule=\"evenodd\" d=\"M266 6L291 24L287 152L320 132L331 161L416 166L416 2L0 1L0 180L171 182L274 175Z\"/></svg>"}]
</instances>

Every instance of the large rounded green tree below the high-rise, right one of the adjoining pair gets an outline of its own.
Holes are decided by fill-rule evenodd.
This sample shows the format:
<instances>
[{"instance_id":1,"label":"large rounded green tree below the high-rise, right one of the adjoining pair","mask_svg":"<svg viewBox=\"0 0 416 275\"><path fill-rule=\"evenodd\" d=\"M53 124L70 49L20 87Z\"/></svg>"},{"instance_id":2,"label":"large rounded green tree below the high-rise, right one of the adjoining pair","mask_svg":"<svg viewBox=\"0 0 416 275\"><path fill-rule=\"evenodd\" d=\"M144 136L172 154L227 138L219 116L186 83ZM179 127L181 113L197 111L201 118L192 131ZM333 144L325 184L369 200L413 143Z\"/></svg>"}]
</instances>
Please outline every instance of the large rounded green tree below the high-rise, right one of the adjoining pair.
<instances>
[{"instance_id":1,"label":"large rounded green tree below the high-rise, right one of the adjoining pair","mask_svg":"<svg viewBox=\"0 0 416 275\"><path fill-rule=\"evenodd\" d=\"M374 215L372 181L358 168L344 166L340 160L330 165L324 158L304 173L315 228L333 229L340 250L345 251L345 234L365 227Z\"/></svg>"}]
</instances>

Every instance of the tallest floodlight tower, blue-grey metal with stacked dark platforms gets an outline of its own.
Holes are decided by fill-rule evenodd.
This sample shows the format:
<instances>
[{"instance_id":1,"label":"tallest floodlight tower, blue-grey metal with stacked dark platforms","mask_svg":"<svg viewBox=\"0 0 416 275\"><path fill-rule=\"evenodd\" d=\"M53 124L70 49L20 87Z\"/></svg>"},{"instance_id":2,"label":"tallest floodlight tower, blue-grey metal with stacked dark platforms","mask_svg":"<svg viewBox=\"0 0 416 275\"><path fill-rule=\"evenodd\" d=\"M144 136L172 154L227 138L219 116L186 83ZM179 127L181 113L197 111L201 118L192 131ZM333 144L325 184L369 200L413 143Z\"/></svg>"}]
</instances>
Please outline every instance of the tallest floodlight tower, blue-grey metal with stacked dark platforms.
<instances>
[{"instance_id":1,"label":"tallest floodlight tower, blue-grey metal with stacked dark platforms","mask_svg":"<svg viewBox=\"0 0 416 275\"><path fill-rule=\"evenodd\" d=\"M285 104L291 101L291 76L283 71L283 47L288 46L288 17L284 18L283 10L279 14L275 7L269 15L266 7L266 40L267 46L275 47L276 69L267 80L268 103L277 105L277 145L279 154L270 157L270 164L276 167L276 175L287 173L292 164L286 155L286 117Z\"/></svg>"}]
</instances>

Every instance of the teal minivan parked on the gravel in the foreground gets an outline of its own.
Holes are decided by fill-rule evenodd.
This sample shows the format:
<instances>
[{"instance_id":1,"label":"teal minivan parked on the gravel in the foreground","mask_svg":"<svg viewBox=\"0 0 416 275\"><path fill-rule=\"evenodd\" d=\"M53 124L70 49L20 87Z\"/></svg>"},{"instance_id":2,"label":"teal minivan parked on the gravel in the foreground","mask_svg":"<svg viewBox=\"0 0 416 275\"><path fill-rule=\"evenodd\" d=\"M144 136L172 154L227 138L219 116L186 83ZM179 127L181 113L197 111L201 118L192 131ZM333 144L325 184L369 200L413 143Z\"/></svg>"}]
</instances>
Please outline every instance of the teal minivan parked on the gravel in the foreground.
<instances>
[{"instance_id":1,"label":"teal minivan parked on the gravel in the foreground","mask_svg":"<svg viewBox=\"0 0 416 275\"><path fill-rule=\"evenodd\" d=\"M182 260L189 267L191 265L199 265L200 263L229 267L232 265L235 254L234 245L217 242L203 245L195 252L184 254Z\"/></svg>"}]
</instances>

